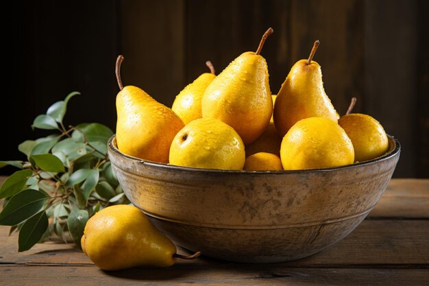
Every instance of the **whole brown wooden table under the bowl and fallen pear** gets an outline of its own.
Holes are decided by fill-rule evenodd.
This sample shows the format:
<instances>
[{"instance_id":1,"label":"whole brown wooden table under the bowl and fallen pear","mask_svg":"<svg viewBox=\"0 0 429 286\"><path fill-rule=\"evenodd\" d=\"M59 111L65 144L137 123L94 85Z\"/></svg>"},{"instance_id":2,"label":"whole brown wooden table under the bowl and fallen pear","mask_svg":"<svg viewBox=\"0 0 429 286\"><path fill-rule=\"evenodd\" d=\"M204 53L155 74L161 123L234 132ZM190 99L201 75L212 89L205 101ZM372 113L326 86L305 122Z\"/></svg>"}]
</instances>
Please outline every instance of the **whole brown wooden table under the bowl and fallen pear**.
<instances>
[{"instance_id":1,"label":"whole brown wooden table under the bowl and fallen pear","mask_svg":"<svg viewBox=\"0 0 429 286\"><path fill-rule=\"evenodd\" d=\"M429 285L429 180L391 180L345 239L285 263L199 257L169 268L104 272L71 244L38 243L18 253L18 238L8 232L0 227L0 285Z\"/></svg>"}]
</instances>

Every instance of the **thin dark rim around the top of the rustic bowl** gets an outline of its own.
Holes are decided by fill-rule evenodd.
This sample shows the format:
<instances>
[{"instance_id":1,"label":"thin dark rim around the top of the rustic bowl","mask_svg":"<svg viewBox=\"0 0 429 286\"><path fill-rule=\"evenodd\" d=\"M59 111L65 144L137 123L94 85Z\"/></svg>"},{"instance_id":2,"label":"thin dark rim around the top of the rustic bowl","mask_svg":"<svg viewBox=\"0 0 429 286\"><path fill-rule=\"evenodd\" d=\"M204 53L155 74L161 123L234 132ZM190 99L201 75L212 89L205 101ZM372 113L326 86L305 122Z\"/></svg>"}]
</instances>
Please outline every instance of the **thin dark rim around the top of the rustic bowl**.
<instances>
[{"instance_id":1,"label":"thin dark rim around the top of the rustic bowl","mask_svg":"<svg viewBox=\"0 0 429 286\"><path fill-rule=\"evenodd\" d=\"M177 170L177 171L193 171L193 172L202 172L202 173L209 172L214 174L216 173L219 173L219 174L307 174L307 173L315 173L315 172L323 173L323 172L336 171L341 169L352 169L356 167L362 167L365 165L372 165L384 160L389 160L390 158L393 158L394 156L397 156L400 154L401 145L400 145L400 142L397 139L395 139L395 137L389 134L387 134L387 137L389 139L389 151L380 157L373 158L371 160L366 160L359 163L353 163L350 165L344 165L339 167L317 168L317 169L248 171L248 170L228 170L228 169L206 169L206 168L198 168L198 167L184 167L184 166L178 166L178 165L171 165L169 163L159 163L159 162L154 162L150 160L143 160L119 151L119 149L114 145L114 141L116 140L116 134L113 134L112 136L110 136L110 139L108 140L108 153L114 152L115 154L121 157L125 157L128 160L132 160L138 164L147 165L151 167L159 167L162 169Z\"/></svg>"}]
</instances>

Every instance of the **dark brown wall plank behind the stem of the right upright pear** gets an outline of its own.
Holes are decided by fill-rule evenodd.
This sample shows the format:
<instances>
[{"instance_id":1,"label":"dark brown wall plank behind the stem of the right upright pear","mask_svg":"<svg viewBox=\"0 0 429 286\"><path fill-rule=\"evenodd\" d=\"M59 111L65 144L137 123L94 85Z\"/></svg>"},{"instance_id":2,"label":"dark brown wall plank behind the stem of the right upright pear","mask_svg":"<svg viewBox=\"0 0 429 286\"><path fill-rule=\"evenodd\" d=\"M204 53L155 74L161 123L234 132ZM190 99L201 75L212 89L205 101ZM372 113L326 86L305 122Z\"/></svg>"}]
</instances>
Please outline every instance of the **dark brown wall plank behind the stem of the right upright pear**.
<instances>
[{"instance_id":1,"label":"dark brown wall plank behind the stem of the right upright pear","mask_svg":"<svg viewBox=\"0 0 429 286\"><path fill-rule=\"evenodd\" d=\"M353 96L358 98L355 110L360 110L365 97L363 5L358 0L291 1L290 67L297 60L308 58L313 43L319 40L314 60L321 65L326 94L340 115Z\"/></svg>"}]
</instances>

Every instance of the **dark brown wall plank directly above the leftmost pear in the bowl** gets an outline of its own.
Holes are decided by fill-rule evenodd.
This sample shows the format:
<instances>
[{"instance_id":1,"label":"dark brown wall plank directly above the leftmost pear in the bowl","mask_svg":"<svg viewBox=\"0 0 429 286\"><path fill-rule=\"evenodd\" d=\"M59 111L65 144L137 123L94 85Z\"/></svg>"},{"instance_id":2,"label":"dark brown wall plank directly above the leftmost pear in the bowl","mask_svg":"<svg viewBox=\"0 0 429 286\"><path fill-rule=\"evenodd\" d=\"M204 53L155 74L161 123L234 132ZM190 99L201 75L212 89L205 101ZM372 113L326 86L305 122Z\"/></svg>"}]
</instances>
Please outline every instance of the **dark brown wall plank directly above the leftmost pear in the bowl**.
<instances>
[{"instance_id":1,"label":"dark brown wall plank directly above the leftmost pear in the bowl","mask_svg":"<svg viewBox=\"0 0 429 286\"><path fill-rule=\"evenodd\" d=\"M184 87L184 1L119 1L124 85L171 106Z\"/></svg>"}]
</instances>

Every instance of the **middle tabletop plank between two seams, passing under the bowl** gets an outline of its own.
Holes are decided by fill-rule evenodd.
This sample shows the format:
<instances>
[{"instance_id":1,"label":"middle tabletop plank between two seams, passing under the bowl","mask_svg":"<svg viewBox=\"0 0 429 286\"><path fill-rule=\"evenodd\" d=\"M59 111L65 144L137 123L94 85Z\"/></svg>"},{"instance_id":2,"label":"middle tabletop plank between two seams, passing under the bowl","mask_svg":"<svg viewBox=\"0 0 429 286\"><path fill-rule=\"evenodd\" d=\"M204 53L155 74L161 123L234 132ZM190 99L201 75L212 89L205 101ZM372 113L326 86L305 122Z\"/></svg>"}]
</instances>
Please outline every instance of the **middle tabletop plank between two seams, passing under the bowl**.
<instances>
[{"instance_id":1,"label":"middle tabletop plank between two seams, passing under the bowl","mask_svg":"<svg viewBox=\"0 0 429 286\"><path fill-rule=\"evenodd\" d=\"M8 228L1 226L0 264L90 264L73 245L39 243L28 252L18 253L16 235L7 235ZM180 249L179 252L185 250ZM211 265L219 262L202 257L192 263ZM311 257L281 264L287 267L367 267L368 264L377 267L429 267L429 220L364 220L334 246Z\"/></svg>"}]
</instances>

